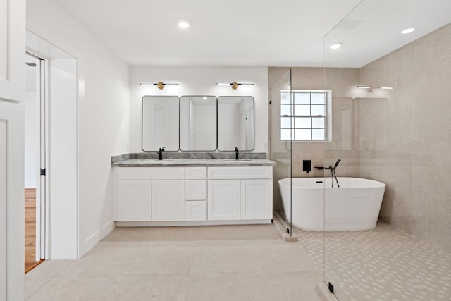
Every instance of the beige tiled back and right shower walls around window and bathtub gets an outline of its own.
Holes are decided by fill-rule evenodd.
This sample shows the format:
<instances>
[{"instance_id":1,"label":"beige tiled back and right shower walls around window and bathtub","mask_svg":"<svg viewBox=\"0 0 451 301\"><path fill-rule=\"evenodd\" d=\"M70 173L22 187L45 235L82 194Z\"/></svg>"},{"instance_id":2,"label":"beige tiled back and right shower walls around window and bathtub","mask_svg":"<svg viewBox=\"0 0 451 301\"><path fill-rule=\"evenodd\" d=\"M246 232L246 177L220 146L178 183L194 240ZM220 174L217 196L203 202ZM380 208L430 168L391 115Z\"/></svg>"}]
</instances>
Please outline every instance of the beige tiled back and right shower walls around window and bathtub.
<instances>
[{"instance_id":1,"label":"beige tiled back and right shower walls around window and bathtub","mask_svg":"<svg viewBox=\"0 0 451 301\"><path fill-rule=\"evenodd\" d=\"M280 99L270 99L274 179L342 159L338 176L387 184L380 219L451 252L451 25L362 68L292 68L292 89L332 90L332 142L293 142L292 164L277 143ZM327 58L326 58L327 59ZM288 68L269 68L271 87ZM357 85L390 86L367 92ZM279 109L280 110L280 109ZM291 167L292 166L292 167ZM276 181L275 181L276 183ZM275 209L281 208L274 187Z\"/></svg>"}]
</instances>

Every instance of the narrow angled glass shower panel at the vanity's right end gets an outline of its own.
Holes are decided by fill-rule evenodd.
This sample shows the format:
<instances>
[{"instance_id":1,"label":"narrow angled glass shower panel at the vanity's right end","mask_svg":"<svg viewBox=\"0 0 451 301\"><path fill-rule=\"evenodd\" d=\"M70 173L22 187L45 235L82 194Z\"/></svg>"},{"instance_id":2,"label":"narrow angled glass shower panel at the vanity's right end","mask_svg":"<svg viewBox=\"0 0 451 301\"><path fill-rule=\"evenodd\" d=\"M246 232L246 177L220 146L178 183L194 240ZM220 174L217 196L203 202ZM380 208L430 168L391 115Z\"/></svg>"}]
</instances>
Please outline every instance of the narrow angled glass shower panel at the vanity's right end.
<instances>
[{"instance_id":1,"label":"narrow angled glass shower panel at the vanity's right end","mask_svg":"<svg viewBox=\"0 0 451 301\"><path fill-rule=\"evenodd\" d=\"M291 93L291 70L274 80L269 90L270 97L270 159L276 162L273 168L273 211L287 233L291 226L291 162L292 130L294 118Z\"/></svg>"}]
</instances>

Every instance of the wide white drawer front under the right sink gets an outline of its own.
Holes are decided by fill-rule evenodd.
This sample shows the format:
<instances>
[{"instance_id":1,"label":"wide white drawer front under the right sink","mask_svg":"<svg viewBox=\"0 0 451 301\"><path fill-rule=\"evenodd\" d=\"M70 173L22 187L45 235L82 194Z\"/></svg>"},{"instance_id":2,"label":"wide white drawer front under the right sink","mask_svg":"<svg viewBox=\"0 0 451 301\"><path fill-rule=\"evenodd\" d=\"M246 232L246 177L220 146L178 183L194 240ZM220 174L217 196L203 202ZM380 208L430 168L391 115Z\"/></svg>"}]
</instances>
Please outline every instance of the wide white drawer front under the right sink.
<instances>
[{"instance_id":1,"label":"wide white drawer front under the right sink","mask_svg":"<svg viewBox=\"0 0 451 301\"><path fill-rule=\"evenodd\" d=\"M272 166L221 166L208 168L209 179L271 179Z\"/></svg>"}]
</instances>

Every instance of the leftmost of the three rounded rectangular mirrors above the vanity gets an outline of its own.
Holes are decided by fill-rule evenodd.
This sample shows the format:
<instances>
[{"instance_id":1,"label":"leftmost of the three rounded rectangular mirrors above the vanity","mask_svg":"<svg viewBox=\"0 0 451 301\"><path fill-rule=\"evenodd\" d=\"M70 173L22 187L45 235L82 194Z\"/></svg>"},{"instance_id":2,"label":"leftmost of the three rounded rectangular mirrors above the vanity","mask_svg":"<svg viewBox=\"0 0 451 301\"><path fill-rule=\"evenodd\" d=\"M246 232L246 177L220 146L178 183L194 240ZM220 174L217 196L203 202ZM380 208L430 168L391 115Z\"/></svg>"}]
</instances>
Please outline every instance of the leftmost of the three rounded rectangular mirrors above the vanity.
<instances>
[{"instance_id":1,"label":"leftmost of the three rounded rectangular mirrors above the vanity","mask_svg":"<svg viewBox=\"0 0 451 301\"><path fill-rule=\"evenodd\" d=\"M178 151L179 111L178 96L142 97L142 150Z\"/></svg>"}]
</instances>

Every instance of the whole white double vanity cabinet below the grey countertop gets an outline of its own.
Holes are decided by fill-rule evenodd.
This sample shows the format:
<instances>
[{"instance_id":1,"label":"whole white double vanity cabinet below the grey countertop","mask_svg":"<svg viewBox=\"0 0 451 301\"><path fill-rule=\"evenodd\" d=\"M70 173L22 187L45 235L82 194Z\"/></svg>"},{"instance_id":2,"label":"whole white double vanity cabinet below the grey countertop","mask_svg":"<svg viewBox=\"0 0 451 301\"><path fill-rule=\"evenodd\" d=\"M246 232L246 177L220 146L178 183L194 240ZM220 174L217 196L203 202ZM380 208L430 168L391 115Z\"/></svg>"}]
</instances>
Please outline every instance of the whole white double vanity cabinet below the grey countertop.
<instances>
[{"instance_id":1,"label":"whole white double vanity cabinet below the grey countertop","mask_svg":"<svg viewBox=\"0 0 451 301\"><path fill-rule=\"evenodd\" d=\"M114 174L116 221L128 225L271 223L273 218L272 166L120 166Z\"/></svg>"}]
</instances>

